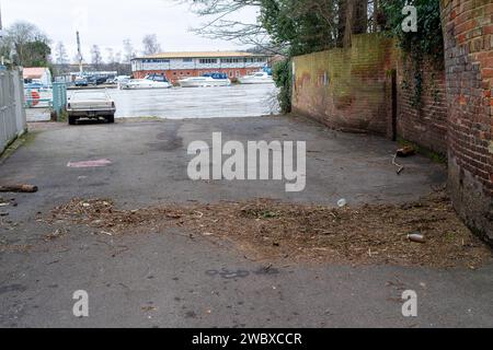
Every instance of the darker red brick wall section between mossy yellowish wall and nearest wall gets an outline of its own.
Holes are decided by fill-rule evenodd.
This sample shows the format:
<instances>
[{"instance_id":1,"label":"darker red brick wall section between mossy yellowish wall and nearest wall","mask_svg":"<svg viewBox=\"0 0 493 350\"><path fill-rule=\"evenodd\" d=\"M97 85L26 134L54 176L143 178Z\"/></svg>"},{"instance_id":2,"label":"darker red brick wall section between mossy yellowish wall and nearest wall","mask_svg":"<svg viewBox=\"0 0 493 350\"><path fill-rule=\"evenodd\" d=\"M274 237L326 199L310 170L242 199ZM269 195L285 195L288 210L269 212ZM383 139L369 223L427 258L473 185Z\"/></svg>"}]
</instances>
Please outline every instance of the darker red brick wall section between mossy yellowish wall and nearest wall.
<instances>
[{"instance_id":1,"label":"darker red brick wall section between mossy yellowish wall and nearest wall","mask_svg":"<svg viewBox=\"0 0 493 350\"><path fill-rule=\"evenodd\" d=\"M416 97L416 69L421 70L423 93ZM416 103L417 102L417 103ZM440 154L447 154L447 100L445 69L424 62L415 68L410 59L398 63L398 135Z\"/></svg>"}]
</instances>

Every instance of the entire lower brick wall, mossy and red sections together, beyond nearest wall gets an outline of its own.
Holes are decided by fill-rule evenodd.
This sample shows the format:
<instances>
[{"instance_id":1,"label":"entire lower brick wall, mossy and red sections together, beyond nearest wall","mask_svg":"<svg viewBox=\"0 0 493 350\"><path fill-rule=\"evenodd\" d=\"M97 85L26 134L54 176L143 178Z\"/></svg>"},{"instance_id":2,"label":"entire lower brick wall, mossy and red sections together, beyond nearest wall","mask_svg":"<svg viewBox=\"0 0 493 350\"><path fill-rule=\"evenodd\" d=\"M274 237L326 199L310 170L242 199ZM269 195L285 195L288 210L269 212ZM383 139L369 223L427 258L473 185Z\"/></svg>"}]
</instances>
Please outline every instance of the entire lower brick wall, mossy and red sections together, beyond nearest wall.
<instances>
[{"instance_id":1,"label":"entire lower brick wall, mossy and red sections together, beyond nearest wall","mask_svg":"<svg viewBox=\"0 0 493 350\"><path fill-rule=\"evenodd\" d=\"M310 54L296 57L294 62L294 113L313 117L334 129L388 137L394 136L389 72L395 69L398 136L447 153L443 68L424 65L423 96L421 106L415 107L413 70L400 57L394 43L380 35L356 35L351 49Z\"/></svg>"}]
</instances>

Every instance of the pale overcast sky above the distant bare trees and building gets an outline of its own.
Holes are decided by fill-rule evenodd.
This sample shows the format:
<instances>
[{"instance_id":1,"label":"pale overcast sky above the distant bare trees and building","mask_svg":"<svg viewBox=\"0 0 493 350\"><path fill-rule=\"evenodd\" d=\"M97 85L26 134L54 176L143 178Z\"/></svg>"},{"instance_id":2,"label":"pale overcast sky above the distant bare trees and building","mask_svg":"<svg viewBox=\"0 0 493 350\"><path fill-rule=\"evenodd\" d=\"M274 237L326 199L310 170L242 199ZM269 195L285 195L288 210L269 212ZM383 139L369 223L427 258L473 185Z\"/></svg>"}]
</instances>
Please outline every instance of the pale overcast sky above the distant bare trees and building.
<instances>
[{"instance_id":1,"label":"pale overcast sky above the distant bare trees and building","mask_svg":"<svg viewBox=\"0 0 493 350\"><path fill-rule=\"evenodd\" d=\"M70 60L77 52L76 31L81 32L83 56L90 60L90 48L123 48L130 38L141 50L142 37L157 34L164 51L228 50L244 48L236 43L210 40L190 32L204 22L190 11L187 4L174 0L0 0L3 26L15 21L36 24L53 40L62 42ZM236 16L253 22L255 9Z\"/></svg>"}]
</instances>

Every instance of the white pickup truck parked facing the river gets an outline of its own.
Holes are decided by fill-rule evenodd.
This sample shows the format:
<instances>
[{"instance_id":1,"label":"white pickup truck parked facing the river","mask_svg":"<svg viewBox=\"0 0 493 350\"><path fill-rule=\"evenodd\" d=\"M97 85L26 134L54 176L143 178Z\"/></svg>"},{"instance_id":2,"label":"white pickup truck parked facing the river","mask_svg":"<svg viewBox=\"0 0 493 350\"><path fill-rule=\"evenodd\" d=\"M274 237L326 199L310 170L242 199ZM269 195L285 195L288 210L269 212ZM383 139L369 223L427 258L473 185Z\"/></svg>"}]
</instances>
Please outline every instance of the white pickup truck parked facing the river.
<instances>
[{"instance_id":1,"label":"white pickup truck parked facing the river","mask_svg":"<svg viewBox=\"0 0 493 350\"><path fill-rule=\"evenodd\" d=\"M74 125L78 119L105 118L115 122L115 102L105 91L76 91L67 103L68 121Z\"/></svg>"}]
</instances>

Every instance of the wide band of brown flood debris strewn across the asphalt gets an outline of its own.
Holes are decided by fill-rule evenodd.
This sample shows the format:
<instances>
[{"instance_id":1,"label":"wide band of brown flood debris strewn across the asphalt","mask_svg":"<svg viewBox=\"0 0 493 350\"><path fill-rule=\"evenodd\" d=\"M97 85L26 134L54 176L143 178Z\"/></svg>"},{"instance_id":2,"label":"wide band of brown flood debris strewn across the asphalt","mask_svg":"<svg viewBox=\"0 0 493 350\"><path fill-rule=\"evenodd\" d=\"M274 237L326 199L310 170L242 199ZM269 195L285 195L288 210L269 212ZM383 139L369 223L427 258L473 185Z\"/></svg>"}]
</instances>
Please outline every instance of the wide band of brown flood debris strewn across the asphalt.
<instances>
[{"instance_id":1,"label":"wide band of brown flood debris strewn across the asphalt","mask_svg":"<svg viewBox=\"0 0 493 350\"><path fill-rule=\"evenodd\" d=\"M259 199L118 210L111 200L73 199L55 208L50 220L85 224L115 236L165 233L167 228L179 226L214 242L229 240L249 256L268 261L477 268L492 256L458 219L444 192L406 205L359 208ZM420 243L411 240L416 232L423 237Z\"/></svg>"}]
</instances>

